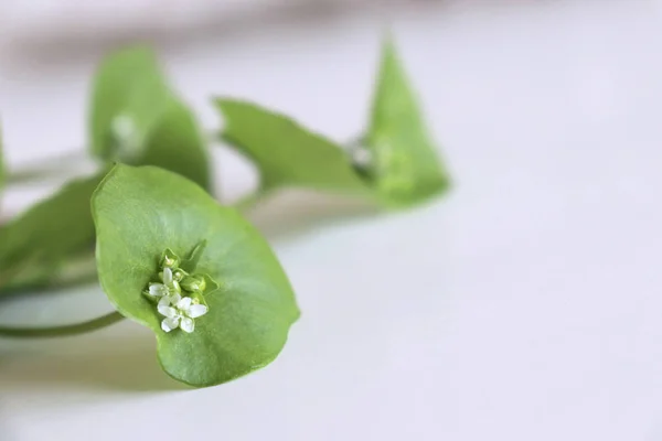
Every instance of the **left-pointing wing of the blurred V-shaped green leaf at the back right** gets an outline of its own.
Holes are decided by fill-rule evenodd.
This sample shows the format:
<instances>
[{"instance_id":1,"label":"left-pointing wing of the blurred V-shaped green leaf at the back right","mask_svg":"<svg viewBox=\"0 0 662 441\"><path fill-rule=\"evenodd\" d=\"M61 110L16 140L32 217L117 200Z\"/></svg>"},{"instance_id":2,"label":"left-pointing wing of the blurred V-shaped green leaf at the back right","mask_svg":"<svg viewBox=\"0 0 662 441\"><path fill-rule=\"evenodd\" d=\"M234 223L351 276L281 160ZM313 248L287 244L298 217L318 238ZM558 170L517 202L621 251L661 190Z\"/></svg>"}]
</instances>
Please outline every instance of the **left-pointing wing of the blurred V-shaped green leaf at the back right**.
<instances>
[{"instance_id":1,"label":"left-pointing wing of the blurred V-shaped green leaf at the back right","mask_svg":"<svg viewBox=\"0 0 662 441\"><path fill-rule=\"evenodd\" d=\"M348 153L332 141L250 103L216 99L215 104L225 119L223 138L255 161L263 190L301 186L365 191Z\"/></svg>"}]
</instances>

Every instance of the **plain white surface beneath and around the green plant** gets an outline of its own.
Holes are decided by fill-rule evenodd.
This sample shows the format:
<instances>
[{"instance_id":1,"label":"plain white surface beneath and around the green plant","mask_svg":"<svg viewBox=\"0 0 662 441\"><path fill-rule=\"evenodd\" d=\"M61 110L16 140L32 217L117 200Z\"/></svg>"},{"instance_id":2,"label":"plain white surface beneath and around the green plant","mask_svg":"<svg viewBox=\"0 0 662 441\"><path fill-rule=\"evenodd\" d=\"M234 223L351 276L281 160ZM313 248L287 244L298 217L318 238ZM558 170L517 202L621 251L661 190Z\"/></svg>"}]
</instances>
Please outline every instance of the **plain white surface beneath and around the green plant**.
<instances>
[{"instance_id":1,"label":"plain white surface beneath and around the green plant","mask_svg":"<svg viewBox=\"0 0 662 441\"><path fill-rule=\"evenodd\" d=\"M662 439L660 10L521 3L396 21L451 196L375 218L286 201L258 216L303 312L273 365L169 391L138 325L2 341L0 439ZM229 93L348 139L376 31L356 17L164 56L210 125L207 95ZM90 67L1 71L10 160L83 143ZM75 299L71 316L107 308L98 290ZM64 321L56 304L34 313Z\"/></svg>"}]
</instances>

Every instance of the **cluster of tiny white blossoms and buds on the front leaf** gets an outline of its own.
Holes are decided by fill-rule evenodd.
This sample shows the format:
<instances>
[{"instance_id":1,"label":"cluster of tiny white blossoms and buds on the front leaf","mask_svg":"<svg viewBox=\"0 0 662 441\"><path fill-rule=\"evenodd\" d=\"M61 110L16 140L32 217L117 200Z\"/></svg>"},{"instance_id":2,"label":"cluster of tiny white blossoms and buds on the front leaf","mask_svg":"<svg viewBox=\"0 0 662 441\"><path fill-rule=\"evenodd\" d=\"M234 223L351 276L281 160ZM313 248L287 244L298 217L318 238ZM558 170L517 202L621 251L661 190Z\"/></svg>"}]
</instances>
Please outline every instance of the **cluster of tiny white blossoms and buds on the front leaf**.
<instances>
[{"instance_id":1,"label":"cluster of tiny white blossoms and buds on the front leaf","mask_svg":"<svg viewBox=\"0 0 662 441\"><path fill-rule=\"evenodd\" d=\"M189 275L178 268L179 259L164 254L159 272L161 282L151 282L145 292L157 300L157 311L163 315L161 329L166 332L177 330L191 333L195 330L194 319L206 314L207 306L200 303L205 289L201 275Z\"/></svg>"}]
</instances>

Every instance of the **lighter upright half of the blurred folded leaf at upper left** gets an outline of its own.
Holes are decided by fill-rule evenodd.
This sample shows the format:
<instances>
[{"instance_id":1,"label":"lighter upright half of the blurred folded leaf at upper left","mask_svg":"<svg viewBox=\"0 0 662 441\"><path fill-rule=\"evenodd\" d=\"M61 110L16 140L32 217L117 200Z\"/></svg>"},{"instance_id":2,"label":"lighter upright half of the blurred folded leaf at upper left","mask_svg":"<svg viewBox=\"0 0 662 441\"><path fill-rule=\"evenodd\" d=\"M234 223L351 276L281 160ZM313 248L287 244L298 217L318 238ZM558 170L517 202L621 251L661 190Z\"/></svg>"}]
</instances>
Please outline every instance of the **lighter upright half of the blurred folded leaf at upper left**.
<instances>
[{"instance_id":1,"label":"lighter upright half of the blurred folded leaf at upper left","mask_svg":"<svg viewBox=\"0 0 662 441\"><path fill-rule=\"evenodd\" d=\"M89 139L106 161L139 158L148 133L170 106L172 94L148 47L121 50L103 60L93 85Z\"/></svg>"}]
</instances>

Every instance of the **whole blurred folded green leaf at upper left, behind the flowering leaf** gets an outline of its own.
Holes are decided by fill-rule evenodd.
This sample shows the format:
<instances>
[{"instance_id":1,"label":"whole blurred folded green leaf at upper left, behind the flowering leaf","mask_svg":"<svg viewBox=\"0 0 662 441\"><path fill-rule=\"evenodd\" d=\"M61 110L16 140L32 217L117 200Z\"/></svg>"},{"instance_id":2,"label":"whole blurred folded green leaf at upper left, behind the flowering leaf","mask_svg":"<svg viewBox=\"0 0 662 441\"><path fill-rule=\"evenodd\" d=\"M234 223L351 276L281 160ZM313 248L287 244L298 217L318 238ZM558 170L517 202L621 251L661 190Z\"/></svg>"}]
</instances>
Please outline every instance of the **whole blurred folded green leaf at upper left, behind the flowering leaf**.
<instances>
[{"instance_id":1,"label":"whole blurred folded green leaf at upper left, behind the flowering leaf","mask_svg":"<svg viewBox=\"0 0 662 441\"><path fill-rule=\"evenodd\" d=\"M158 165L211 190L207 146L195 116L147 47L118 51L102 62L90 139L94 154L106 161Z\"/></svg>"}]
</instances>

